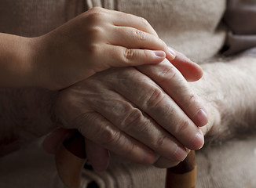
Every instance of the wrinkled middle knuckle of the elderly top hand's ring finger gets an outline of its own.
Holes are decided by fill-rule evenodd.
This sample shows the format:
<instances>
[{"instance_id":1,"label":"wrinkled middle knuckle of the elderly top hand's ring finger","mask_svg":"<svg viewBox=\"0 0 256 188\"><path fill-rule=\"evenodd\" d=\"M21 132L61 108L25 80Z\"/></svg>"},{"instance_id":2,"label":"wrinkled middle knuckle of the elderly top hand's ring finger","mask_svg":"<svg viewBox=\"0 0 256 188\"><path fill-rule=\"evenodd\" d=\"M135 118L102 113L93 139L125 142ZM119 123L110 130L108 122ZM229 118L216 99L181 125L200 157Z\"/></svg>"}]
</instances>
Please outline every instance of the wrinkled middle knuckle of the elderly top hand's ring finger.
<instances>
[{"instance_id":1,"label":"wrinkled middle knuckle of the elderly top hand's ring finger","mask_svg":"<svg viewBox=\"0 0 256 188\"><path fill-rule=\"evenodd\" d=\"M144 116L141 110L133 109L121 122L120 126L123 130L130 130L134 128L135 125L141 125L144 120Z\"/></svg>"}]
</instances>

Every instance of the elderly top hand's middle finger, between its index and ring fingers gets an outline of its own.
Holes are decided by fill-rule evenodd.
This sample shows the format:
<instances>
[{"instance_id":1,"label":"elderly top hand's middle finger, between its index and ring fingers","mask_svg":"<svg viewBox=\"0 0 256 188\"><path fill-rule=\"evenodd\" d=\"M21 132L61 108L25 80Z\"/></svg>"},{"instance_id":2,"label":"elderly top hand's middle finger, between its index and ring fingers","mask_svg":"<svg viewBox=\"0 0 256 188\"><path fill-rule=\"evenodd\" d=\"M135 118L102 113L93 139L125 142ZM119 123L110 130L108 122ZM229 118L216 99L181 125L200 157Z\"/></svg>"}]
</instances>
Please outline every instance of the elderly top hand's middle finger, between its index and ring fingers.
<instances>
[{"instance_id":1,"label":"elderly top hand's middle finger, between its index and ring fingers","mask_svg":"<svg viewBox=\"0 0 256 188\"><path fill-rule=\"evenodd\" d=\"M191 150L203 146L202 132L155 82L136 70L121 75L116 85L112 85L116 92L136 103L184 146Z\"/></svg>"}]
</instances>

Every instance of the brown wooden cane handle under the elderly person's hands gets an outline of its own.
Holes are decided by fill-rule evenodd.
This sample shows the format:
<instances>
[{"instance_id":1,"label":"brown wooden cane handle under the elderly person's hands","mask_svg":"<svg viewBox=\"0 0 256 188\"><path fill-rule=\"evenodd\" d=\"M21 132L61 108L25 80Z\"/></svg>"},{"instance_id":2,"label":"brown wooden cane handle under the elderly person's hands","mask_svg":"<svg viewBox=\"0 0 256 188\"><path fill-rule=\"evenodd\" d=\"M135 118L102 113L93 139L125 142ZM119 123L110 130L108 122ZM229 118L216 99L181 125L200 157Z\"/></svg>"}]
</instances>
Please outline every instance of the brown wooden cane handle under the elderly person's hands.
<instances>
[{"instance_id":1,"label":"brown wooden cane handle under the elderly person's hands","mask_svg":"<svg viewBox=\"0 0 256 188\"><path fill-rule=\"evenodd\" d=\"M84 137L75 132L57 150L57 172L69 188L79 188L83 165L86 161ZM167 168L166 188L193 188L196 186L196 156L191 151L176 167Z\"/></svg>"}]
</instances>

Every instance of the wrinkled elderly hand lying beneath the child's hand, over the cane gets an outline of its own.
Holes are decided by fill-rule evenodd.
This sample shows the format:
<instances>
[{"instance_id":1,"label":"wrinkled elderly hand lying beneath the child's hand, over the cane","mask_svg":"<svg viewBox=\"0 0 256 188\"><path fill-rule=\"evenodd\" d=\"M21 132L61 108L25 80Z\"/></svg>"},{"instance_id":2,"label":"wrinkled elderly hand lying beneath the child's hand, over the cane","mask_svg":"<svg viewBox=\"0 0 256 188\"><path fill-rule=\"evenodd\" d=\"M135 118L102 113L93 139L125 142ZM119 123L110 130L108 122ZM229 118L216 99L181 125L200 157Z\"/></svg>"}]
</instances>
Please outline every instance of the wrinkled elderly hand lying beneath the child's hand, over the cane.
<instances>
[{"instance_id":1,"label":"wrinkled elderly hand lying beneath the child's hand, over the cane","mask_svg":"<svg viewBox=\"0 0 256 188\"><path fill-rule=\"evenodd\" d=\"M60 92L60 117L65 128L86 137L93 168L108 166L108 150L129 161L170 167L186 157L185 147L203 146L198 126L207 123L207 114L174 65L164 60L137 69L112 68ZM186 66L195 77L202 75L195 64ZM183 74L192 80L191 72Z\"/></svg>"}]
</instances>

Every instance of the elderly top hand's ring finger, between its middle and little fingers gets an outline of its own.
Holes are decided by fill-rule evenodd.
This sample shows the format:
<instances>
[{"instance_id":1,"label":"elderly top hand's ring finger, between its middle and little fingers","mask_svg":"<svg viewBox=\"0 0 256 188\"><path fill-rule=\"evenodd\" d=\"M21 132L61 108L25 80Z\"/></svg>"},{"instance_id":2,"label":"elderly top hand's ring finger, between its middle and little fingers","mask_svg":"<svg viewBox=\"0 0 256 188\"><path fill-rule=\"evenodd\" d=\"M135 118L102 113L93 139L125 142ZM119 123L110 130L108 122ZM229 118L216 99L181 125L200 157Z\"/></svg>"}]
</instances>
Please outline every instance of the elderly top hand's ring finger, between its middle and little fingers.
<instances>
[{"instance_id":1,"label":"elderly top hand's ring finger, between its middle and little fingers","mask_svg":"<svg viewBox=\"0 0 256 188\"><path fill-rule=\"evenodd\" d=\"M156 154L177 161L182 161L187 156L185 148L177 139L116 92L108 93L108 100L101 101L101 105L94 105L94 110Z\"/></svg>"}]
</instances>

